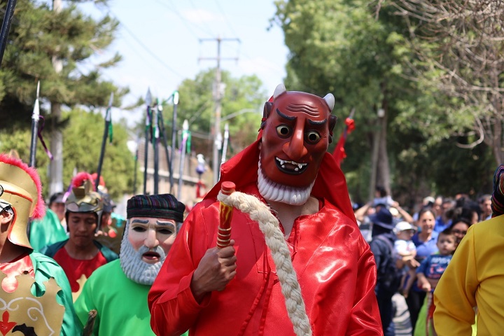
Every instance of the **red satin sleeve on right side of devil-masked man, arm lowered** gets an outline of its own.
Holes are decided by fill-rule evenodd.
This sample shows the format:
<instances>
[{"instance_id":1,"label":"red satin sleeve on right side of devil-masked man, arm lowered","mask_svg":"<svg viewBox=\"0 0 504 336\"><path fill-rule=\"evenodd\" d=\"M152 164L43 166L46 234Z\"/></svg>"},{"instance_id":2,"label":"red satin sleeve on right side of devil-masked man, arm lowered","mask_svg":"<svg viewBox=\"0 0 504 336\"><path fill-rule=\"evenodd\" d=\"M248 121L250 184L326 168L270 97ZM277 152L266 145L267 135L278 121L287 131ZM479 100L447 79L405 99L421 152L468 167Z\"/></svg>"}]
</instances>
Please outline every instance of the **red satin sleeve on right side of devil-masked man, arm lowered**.
<instances>
[{"instance_id":1,"label":"red satin sleeve on right side of devil-masked man, arm lowered","mask_svg":"<svg viewBox=\"0 0 504 336\"><path fill-rule=\"evenodd\" d=\"M352 314L346 335L383 335L374 286L377 281L374 255L363 240L363 254L358 260L358 273Z\"/></svg>"}]
</instances>

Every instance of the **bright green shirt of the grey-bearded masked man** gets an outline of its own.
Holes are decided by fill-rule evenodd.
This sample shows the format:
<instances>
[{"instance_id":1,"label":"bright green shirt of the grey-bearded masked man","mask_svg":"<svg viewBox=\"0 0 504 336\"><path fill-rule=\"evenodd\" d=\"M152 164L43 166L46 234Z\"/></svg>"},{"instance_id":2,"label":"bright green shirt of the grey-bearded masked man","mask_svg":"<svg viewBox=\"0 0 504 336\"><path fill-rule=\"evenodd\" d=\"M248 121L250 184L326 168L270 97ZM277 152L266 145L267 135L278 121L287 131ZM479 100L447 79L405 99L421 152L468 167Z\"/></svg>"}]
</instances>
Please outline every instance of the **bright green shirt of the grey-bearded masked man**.
<instances>
[{"instance_id":1,"label":"bright green shirt of the grey-bearded masked man","mask_svg":"<svg viewBox=\"0 0 504 336\"><path fill-rule=\"evenodd\" d=\"M93 335L155 335L147 305L149 289L151 286L128 279L120 260L114 260L87 279L74 304L76 314L84 325L88 312L97 310Z\"/></svg>"}]
</instances>

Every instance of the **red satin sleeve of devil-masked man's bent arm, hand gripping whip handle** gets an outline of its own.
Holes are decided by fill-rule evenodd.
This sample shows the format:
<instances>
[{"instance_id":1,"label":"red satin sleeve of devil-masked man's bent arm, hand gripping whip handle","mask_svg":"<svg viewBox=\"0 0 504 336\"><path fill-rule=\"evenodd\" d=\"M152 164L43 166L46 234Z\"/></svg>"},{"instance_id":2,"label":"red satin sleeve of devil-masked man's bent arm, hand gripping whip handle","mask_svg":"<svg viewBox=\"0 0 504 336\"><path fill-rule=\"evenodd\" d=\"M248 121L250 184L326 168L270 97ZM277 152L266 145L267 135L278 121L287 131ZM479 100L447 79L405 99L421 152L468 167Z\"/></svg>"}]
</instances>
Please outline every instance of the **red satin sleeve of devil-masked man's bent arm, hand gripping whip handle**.
<instances>
[{"instance_id":1,"label":"red satin sleeve of devil-masked man's bent arm, hand gripping whip handle","mask_svg":"<svg viewBox=\"0 0 504 336\"><path fill-rule=\"evenodd\" d=\"M151 327L156 335L182 335L209 302L210 296L198 304L190 290L195 267L208 248L204 243L211 235L200 214L200 209L193 209L186 218L148 293ZM199 244L192 244L193 237L198 237Z\"/></svg>"}]
</instances>

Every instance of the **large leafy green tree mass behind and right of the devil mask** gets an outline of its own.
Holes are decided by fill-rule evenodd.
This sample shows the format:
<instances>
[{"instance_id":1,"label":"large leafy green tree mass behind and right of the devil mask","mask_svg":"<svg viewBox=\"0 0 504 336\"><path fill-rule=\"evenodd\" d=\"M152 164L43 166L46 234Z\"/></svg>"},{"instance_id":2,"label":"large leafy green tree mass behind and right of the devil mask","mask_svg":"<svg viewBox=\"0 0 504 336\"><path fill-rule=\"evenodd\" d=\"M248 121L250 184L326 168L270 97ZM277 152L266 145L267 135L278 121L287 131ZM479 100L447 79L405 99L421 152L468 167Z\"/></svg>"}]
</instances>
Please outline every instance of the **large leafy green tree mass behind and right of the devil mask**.
<instances>
[{"instance_id":1,"label":"large leafy green tree mass behind and right of the devil mask","mask_svg":"<svg viewBox=\"0 0 504 336\"><path fill-rule=\"evenodd\" d=\"M353 200L365 202L370 197L373 158L380 159L377 183L390 183L393 196L408 205L430 193L460 192L463 185L454 179L461 174L451 167L460 165L465 174L486 176L480 162L488 162L489 151L456 146L479 138L459 137L473 123L459 109L460 98L433 85L435 71L425 73L423 80L412 76L418 74L412 64L421 65L423 59L408 44L412 25L397 15L397 8L379 7L389 4L382 1L275 3L273 20L283 29L290 49L288 90L321 96L332 92L334 114L340 120L355 109L356 130L346 140L348 157L342 162ZM379 109L384 110L383 118L377 116ZM341 121L337 124L336 141L343 126ZM488 186L482 179L465 183L467 192L481 193Z\"/></svg>"}]
</instances>

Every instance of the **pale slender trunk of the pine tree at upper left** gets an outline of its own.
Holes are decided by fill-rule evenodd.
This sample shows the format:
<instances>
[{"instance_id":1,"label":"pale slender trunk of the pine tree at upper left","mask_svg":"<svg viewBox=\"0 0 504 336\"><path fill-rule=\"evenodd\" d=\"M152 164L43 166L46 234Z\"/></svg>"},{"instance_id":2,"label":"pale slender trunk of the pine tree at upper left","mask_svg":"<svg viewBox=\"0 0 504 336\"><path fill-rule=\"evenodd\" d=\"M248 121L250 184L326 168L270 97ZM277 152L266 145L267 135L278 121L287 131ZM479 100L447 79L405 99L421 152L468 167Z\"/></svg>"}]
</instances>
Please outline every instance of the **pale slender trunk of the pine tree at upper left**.
<instances>
[{"instance_id":1,"label":"pale slender trunk of the pine tree at upper left","mask_svg":"<svg viewBox=\"0 0 504 336\"><path fill-rule=\"evenodd\" d=\"M62 9L62 0L52 0L53 12L61 13ZM62 59L52 56L52 67L56 73L61 73L63 70ZM54 155L54 158L49 162L49 195L52 195L63 190L63 134L58 125L61 120L61 104L53 101L50 102L50 105L52 117L50 151Z\"/></svg>"}]
</instances>

